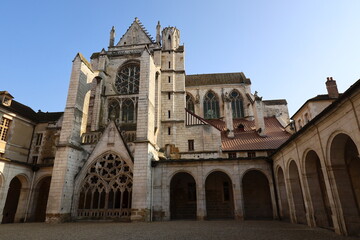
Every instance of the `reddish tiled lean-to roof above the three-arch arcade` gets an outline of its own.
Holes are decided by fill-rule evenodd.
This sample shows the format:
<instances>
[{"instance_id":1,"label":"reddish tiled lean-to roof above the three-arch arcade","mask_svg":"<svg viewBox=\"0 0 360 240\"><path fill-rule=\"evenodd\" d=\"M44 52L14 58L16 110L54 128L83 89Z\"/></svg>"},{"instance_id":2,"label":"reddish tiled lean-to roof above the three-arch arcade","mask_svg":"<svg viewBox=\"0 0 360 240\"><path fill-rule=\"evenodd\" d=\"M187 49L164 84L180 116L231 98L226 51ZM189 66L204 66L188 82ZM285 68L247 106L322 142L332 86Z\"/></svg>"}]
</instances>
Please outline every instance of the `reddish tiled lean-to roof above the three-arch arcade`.
<instances>
[{"instance_id":1,"label":"reddish tiled lean-to roof above the three-arch arcade","mask_svg":"<svg viewBox=\"0 0 360 240\"><path fill-rule=\"evenodd\" d=\"M251 150L275 150L290 136L275 117L267 117L265 120L265 137L259 136L255 131L255 121L234 119L234 138L228 138L226 124L219 119L206 120L221 131L223 151L251 151ZM244 130L238 128L242 124Z\"/></svg>"}]
</instances>

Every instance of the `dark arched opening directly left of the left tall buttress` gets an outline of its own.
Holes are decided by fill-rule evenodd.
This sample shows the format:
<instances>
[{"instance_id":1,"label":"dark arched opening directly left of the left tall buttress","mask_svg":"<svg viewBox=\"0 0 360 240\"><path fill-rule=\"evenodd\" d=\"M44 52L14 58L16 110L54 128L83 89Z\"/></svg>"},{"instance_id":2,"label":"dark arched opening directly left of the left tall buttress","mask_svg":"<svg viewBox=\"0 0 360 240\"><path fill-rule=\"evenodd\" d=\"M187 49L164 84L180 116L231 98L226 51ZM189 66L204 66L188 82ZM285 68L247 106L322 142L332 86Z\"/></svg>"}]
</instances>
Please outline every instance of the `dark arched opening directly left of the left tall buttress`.
<instances>
[{"instance_id":1,"label":"dark arched opening directly left of the left tall buttress","mask_svg":"<svg viewBox=\"0 0 360 240\"><path fill-rule=\"evenodd\" d=\"M46 217L46 206L49 197L51 177L42 179L35 190L35 222L44 222Z\"/></svg>"}]
</instances>

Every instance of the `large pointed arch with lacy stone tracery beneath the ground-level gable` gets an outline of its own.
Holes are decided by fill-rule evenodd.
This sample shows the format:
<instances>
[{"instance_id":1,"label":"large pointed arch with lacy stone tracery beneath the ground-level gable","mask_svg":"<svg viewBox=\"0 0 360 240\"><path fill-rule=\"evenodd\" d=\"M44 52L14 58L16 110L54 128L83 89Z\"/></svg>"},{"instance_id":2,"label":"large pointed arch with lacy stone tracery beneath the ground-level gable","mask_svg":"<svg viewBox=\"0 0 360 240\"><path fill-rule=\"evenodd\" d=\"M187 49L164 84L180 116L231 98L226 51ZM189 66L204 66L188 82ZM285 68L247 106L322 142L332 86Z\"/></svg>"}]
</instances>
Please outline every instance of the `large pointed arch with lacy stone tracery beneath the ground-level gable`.
<instances>
[{"instance_id":1,"label":"large pointed arch with lacy stone tracery beneath the ground-level gable","mask_svg":"<svg viewBox=\"0 0 360 240\"><path fill-rule=\"evenodd\" d=\"M82 182L78 217L129 219L132 183L132 164L113 153L99 157Z\"/></svg>"}]
</instances>

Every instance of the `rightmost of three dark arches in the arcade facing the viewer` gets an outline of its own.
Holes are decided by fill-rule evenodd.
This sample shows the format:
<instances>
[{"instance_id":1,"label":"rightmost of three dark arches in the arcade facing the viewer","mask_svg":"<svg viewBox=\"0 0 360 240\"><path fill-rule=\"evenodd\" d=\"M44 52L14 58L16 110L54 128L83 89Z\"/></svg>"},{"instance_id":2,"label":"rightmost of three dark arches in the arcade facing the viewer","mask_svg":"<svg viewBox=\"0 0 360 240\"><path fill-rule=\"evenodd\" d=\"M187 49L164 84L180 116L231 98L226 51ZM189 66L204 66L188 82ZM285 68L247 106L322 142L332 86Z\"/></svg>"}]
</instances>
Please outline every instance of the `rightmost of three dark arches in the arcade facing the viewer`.
<instances>
[{"instance_id":1,"label":"rightmost of three dark arches in the arcade facing the viewer","mask_svg":"<svg viewBox=\"0 0 360 240\"><path fill-rule=\"evenodd\" d=\"M272 219L269 181L260 171L247 172L242 180L245 219Z\"/></svg>"}]
</instances>

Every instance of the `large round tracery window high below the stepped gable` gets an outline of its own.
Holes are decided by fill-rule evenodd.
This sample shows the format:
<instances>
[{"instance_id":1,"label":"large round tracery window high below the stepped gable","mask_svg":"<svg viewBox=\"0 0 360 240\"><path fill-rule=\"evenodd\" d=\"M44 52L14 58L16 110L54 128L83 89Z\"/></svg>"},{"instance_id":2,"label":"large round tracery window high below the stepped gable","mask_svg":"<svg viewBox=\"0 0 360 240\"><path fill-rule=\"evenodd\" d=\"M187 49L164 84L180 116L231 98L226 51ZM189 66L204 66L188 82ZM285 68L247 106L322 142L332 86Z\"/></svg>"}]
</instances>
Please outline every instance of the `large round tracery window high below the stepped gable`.
<instances>
[{"instance_id":1,"label":"large round tracery window high below the stepped gable","mask_svg":"<svg viewBox=\"0 0 360 240\"><path fill-rule=\"evenodd\" d=\"M120 94L139 93L140 66L136 63L121 67L116 75L115 87Z\"/></svg>"}]
</instances>

